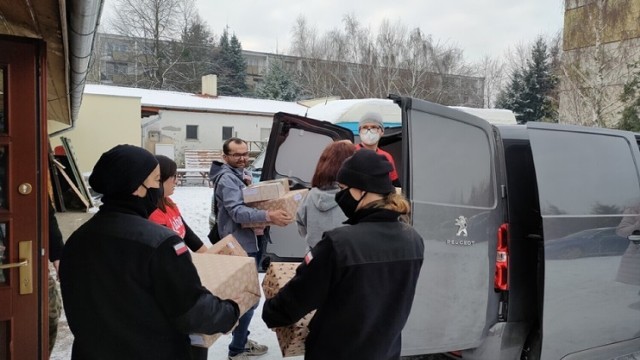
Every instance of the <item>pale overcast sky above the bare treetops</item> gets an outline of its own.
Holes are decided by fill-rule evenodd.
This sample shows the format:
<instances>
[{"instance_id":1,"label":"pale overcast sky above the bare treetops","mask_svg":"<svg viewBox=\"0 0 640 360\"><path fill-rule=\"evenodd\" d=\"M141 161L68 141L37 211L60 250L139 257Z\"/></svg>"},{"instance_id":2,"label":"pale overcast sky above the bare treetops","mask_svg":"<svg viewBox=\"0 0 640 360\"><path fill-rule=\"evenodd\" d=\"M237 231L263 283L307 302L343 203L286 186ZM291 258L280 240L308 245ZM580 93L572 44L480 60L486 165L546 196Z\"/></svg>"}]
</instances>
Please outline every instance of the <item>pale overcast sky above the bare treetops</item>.
<instances>
[{"instance_id":1,"label":"pale overcast sky above the bare treetops","mask_svg":"<svg viewBox=\"0 0 640 360\"><path fill-rule=\"evenodd\" d=\"M216 36L228 25L244 50L286 53L291 28L304 15L318 34L342 28L345 14L377 31L381 21L400 20L433 39L464 50L468 61L500 55L539 34L562 28L563 0L197 0Z\"/></svg>"}]
</instances>

